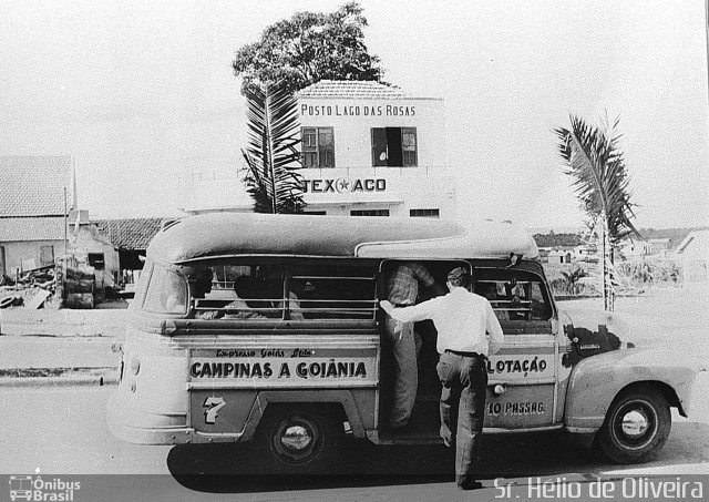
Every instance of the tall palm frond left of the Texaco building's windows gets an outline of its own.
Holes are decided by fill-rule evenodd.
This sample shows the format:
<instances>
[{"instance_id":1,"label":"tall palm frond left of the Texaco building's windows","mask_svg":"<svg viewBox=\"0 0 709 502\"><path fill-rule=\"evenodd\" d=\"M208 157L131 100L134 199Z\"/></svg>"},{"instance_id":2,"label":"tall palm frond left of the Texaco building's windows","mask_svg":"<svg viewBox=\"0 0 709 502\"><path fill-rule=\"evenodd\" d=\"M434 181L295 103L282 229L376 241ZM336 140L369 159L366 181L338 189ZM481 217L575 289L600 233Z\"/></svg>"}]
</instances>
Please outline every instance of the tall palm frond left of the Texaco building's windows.
<instances>
[{"instance_id":1,"label":"tall palm frond left of the Texaco building's windows","mask_svg":"<svg viewBox=\"0 0 709 502\"><path fill-rule=\"evenodd\" d=\"M256 213L301 213L304 181L301 168L298 107L285 86L249 85L246 92L248 145L246 189Z\"/></svg>"}]
</instances>

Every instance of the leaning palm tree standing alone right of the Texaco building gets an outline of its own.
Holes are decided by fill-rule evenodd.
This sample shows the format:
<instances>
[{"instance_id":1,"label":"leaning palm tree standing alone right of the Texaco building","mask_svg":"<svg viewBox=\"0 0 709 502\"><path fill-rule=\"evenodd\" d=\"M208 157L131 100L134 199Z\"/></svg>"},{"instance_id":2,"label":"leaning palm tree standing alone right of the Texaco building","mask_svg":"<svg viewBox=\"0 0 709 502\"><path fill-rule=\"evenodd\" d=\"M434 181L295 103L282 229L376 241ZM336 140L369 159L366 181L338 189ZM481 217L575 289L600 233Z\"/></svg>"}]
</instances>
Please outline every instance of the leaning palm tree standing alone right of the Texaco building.
<instances>
[{"instance_id":1,"label":"leaning palm tree standing alone right of the Texaco building","mask_svg":"<svg viewBox=\"0 0 709 502\"><path fill-rule=\"evenodd\" d=\"M630 203L628 174L618 147L618 119L609 124L606 116L599 127L574 115L571 122L571 130L558 127L554 132L567 165L565 173L574 178L576 195L600 240L604 309L612 311L615 307L614 249L625 237L639 236L631 222L635 204Z\"/></svg>"}]
</instances>

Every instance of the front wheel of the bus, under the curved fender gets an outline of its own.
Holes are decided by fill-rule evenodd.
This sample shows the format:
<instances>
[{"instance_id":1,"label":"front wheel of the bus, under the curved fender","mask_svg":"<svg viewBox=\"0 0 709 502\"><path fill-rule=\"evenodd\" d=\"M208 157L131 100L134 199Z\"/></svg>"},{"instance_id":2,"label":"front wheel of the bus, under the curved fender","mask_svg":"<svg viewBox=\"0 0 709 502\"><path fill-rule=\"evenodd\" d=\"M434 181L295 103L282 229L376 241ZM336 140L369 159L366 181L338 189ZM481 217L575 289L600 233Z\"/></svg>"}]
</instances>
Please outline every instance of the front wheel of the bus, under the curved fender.
<instances>
[{"instance_id":1,"label":"front wheel of the bus, under the curved fender","mask_svg":"<svg viewBox=\"0 0 709 502\"><path fill-rule=\"evenodd\" d=\"M598 432L598 445L617 463L645 462L662 448L670 428L665 396L651 388L628 389L610 404Z\"/></svg>"}]
</instances>

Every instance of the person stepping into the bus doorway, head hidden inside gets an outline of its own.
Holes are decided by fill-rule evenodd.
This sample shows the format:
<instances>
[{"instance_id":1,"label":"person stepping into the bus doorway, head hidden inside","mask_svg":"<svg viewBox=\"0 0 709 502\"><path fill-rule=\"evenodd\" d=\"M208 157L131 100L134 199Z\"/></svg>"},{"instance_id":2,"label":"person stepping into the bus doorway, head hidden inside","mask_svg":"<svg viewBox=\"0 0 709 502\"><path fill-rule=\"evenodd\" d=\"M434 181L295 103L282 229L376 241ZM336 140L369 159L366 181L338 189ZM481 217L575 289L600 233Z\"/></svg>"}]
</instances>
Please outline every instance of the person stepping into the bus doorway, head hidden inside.
<instances>
[{"instance_id":1,"label":"person stepping into the bus doorway, head hidden inside","mask_svg":"<svg viewBox=\"0 0 709 502\"><path fill-rule=\"evenodd\" d=\"M423 265L404 262L387 277L387 299L397 307L411 306L417 303L419 286L430 288L434 296L446 293L435 283L431 273ZM395 362L394 396L389 426L401 429L409 423L419 387L417 356L421 348L421 337L413 330L413 322L403 322L387 316L386 332L393 346Z\"/></svg>"}]
</instances>

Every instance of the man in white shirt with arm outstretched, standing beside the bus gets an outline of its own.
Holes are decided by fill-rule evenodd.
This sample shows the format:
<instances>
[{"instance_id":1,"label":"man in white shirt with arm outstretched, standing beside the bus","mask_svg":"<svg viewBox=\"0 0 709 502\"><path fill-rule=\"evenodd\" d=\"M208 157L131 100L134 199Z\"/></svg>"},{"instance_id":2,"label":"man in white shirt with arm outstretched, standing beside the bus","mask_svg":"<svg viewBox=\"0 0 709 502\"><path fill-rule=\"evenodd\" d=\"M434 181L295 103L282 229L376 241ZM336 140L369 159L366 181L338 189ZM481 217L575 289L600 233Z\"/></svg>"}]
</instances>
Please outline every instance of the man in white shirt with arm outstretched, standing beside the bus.
<instances>
[{"instance_id":1,"label":"man in white shirt with arm outstretched, standing beside the bus","mask_svg":"<svg viewBox=\"0 0 709 502\"><path fill-rule=\"evenodd\" d=\"M438 330L436 367L441 389L441 438L455 443L455 479L461 490L481 488L475 481L475 457L485 418L487 355L504 341L500 321L490 303L467 290L471 277L462 267L448 275L445 296L413 307L397 308L382 300L382 308L402 322L432 319ZM490 337L490 341L487 336Z\"/></svg>"}]
</instances>

